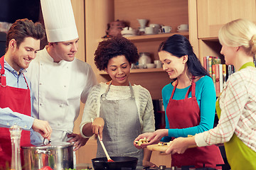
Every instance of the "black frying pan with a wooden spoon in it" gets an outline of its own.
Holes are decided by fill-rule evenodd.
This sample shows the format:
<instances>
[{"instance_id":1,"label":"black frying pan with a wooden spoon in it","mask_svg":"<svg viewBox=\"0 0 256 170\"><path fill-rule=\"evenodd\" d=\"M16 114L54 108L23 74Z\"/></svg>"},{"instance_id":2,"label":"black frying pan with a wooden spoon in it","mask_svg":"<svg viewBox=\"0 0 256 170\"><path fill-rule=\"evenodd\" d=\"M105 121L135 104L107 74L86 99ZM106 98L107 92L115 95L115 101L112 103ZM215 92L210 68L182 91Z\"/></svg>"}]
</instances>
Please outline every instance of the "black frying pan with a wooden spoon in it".
<instances>
[{"instance_id":1,"label":"black frying pan with a wooden spoon in it","mask_svg":"<svg viewBox=\"0 0 256 170\"><path fill-rule=\"evenodd\" d=\"M136 157L111 157L114 162L107 162L107 157L92 159L92 166L95 170L109 169L136 169L138 158Z\"/></svg>"}]
</instances>

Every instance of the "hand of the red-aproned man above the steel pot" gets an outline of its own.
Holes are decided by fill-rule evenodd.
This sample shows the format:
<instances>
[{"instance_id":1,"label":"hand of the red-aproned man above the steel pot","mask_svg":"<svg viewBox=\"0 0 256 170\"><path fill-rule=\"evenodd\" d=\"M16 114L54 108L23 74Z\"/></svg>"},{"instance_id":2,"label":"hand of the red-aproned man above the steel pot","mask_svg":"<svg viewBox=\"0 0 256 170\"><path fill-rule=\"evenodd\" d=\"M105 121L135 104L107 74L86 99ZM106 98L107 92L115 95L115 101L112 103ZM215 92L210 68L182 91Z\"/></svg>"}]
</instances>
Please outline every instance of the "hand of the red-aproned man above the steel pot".
<instances>
[{"instance_id":1,"label":"hand of the red-aproned man above the steel pot","mask_svg":"<svg viewBox=\"0 0 256 170\"><path fill-rule=\"evenodd\" d=\"M42 137L50 140L50 134L53 130L50 128L48 121L35 119L33 121L32 129L40 133Z\"/></svg>"}]
</instances>

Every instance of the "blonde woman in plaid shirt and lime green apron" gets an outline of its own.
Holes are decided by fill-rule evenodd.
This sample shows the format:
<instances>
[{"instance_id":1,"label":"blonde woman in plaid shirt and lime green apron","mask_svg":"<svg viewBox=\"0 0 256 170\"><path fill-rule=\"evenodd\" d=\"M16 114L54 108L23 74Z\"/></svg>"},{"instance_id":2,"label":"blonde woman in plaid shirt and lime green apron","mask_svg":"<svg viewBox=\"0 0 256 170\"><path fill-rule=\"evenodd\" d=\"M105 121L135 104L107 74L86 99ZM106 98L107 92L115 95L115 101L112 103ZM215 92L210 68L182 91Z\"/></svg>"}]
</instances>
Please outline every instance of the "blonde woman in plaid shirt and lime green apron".
<instances>
[{"instance_id":1,"label":"blonde woman in plaid shirt and lime green apron","mask_svg":"<svg viewBox=\"0 0 256 170\"><path fill-rule=\"evenodd\" d=\"M219 31L225 64L235 70L216 102L218 125L193 137L179 137L166 153L183 153L190 145L224 143L231 169L256 169L256 54L255 23L238 19Z\"/></svg>"}]
</instances>

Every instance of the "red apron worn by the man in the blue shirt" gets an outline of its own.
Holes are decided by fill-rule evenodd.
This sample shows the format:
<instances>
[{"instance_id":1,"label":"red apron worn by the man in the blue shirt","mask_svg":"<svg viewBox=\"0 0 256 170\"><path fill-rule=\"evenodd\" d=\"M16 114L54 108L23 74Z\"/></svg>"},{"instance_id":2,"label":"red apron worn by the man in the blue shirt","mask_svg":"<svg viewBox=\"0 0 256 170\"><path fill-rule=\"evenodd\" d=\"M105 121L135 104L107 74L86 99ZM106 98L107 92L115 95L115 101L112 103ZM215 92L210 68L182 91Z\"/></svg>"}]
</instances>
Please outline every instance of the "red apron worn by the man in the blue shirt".
<instances>
[{"instance_id":1,"label":"red apron worn by the man in the blue shirt","mask_svg":"<svg viewBox=\"0 0 256 170\"><path fill-rule=\"evenodd\" d=\"M10 108L14 112L23 115L31 116L31 97L30 90L19 89L11 86L6 86L6 77L4 76L4 57L0 58L1 64L1 78L0 78L0 107ZM25 77L24 77L25 79ZM25 79L26 81L26 79ZM26 81L28 86L28 83ZM30 143L30 132L22 130L21 145ZM21 160L22 157L21 157ZM0 128L0 169L5 167L8 162L11 166L11 137L9 128Z\"/></svg>"}]
</instances>

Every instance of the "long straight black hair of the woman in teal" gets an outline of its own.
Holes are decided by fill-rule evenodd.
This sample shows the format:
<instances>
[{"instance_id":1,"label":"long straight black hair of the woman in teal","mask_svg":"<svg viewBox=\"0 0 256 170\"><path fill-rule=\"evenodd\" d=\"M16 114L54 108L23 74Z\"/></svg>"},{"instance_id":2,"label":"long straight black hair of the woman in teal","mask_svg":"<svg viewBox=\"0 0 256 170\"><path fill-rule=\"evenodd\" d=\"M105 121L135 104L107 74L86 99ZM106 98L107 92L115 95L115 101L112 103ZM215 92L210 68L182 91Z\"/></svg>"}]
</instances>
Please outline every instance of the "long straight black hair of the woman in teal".
<instances>
[{"instance_id":1,"label":"long straight black hair of the woman in teal","mask_svg":"<svg viewBox=\"0 0 256 170\"><path fill-rule=\"evenodd\" d=\"M179 58L188 55L188 61L186 62L188 65L187 74L192 74L194 77L209 76L209 73L193 52L191 43L183 35L172 35L166 41L161 42L158 51L166 51Z\"/></svg>"}]
</instances>

